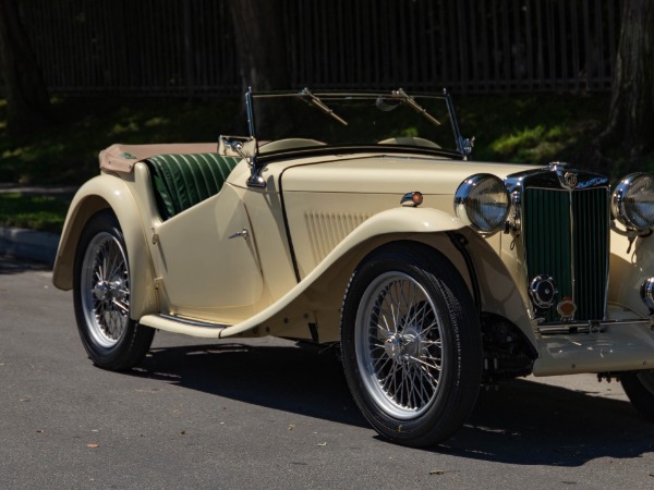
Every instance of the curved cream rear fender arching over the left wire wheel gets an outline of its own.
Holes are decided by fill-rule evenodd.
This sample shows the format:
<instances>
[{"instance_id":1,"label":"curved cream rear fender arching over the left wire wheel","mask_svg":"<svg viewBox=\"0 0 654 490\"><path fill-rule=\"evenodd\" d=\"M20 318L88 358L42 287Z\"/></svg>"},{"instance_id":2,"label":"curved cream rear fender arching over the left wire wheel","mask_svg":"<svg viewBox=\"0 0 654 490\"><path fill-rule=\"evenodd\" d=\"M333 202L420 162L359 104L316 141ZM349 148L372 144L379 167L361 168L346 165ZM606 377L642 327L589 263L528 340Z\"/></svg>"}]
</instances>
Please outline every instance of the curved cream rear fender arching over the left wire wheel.
<instances>
[{"instance_id":1,"label":"curved cream rear fender arching over the left wire wheel","mask_svg":"<svg viewBox=\"0 0 654 490\"><path fill-rule=\"evenodd\" d=\"M125 175L131 177L132 175ZM73 269L77 243L86 223L96 212L111 210L123 232L131 272L131 317L138 319L158 311L147 236L129 183L111 174L101 174L85 183L69 208L57 250L52 283L64 291L73 289Z\"/></svg>"}]
</instances>

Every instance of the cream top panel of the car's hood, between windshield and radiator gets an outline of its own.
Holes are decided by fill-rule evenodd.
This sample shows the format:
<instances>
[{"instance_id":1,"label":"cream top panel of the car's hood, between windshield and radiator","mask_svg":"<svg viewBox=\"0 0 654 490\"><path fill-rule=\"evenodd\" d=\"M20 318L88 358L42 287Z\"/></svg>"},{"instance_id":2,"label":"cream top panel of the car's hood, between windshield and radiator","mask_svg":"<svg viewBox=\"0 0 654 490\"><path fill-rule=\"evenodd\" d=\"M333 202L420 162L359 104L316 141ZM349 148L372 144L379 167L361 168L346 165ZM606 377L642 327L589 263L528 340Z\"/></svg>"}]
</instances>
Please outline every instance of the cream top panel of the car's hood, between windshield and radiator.
<instances>
[{"instance_id":1,"label":"cream top panel of the car's hood, between windshield and radiator","mask_svg":"<svg viewBox=\"0 0 654 490\"><path fill-rule=\"evenodd\" d=\"M451 195L475 173L504 179L535 166L486 163L450 159L364 156L330 161L303 161L282 172L284 192L398 194L420 191L428 195Z\"/></svg>"}]
</instances>

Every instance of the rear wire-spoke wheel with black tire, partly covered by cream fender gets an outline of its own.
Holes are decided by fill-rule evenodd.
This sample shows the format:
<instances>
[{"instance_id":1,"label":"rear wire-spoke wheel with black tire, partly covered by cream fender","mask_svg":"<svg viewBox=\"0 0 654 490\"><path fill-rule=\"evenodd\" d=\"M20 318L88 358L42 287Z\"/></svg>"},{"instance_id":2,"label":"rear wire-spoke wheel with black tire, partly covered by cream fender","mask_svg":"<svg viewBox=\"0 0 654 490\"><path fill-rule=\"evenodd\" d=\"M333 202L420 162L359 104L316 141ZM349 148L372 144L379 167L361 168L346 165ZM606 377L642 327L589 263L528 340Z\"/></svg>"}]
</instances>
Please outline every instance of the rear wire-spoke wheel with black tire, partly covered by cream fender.
<instances>
[{"instance_id":1,"label":"rear wire-spoke wheel with black tire, partly covered by cream fender","mask_svg":"<svg viewBox=\"0 0 654 490\"><path fill-rule=\"evenodd\" d=\"M111 370L129 369L147 353L155 334L130 318L130 268L113 213L86 224L75 254L73 303L82 344L90 359Z\"/></svg>"}]
</instances>

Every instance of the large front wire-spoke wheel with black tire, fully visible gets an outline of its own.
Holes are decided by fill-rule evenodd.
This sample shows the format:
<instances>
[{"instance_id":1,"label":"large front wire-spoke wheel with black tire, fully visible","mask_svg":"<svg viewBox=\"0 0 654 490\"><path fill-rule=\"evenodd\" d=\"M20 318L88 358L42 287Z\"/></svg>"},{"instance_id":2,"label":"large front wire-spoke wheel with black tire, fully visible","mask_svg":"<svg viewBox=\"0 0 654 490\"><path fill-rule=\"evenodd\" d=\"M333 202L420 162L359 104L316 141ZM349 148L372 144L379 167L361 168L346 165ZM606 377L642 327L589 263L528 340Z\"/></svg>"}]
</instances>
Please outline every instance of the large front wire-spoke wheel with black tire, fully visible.
<instances>
[{"instance_id":1,"label":"large front wire-spoke wheel with black tire, fully visible","mask_svg":"<svg viewBox=\"0 0 654 490\"><path fill-rule=\"evenodd\" d=\"M361 262L343 299L341 348L356 405L392 442L437 444L474 407L479 318L458 270L427 246L396 242Z\"/></svg>"}]
</instances>

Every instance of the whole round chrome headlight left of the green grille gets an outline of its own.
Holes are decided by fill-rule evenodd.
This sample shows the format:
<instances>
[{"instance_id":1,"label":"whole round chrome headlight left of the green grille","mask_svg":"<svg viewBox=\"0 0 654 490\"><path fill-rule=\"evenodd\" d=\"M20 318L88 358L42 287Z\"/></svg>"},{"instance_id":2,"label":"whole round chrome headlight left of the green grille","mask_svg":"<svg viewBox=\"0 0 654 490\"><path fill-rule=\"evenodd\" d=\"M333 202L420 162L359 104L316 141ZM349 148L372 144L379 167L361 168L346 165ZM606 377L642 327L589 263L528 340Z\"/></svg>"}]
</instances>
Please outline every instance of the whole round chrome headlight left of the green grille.
<instances>
[{"instance_id":1,"label":"whole round chrome headlight left of the green grille","mask_svg":"<svg viewBox=\"0 0 654 490\"><path fill-rule=\"evenodd\" d=\"M509 193L504 181L488 173L469 176L455 194L455 212L476 231L498 231L509 213Z\"/></svg>"}]
</instances>

